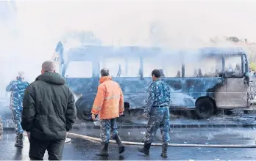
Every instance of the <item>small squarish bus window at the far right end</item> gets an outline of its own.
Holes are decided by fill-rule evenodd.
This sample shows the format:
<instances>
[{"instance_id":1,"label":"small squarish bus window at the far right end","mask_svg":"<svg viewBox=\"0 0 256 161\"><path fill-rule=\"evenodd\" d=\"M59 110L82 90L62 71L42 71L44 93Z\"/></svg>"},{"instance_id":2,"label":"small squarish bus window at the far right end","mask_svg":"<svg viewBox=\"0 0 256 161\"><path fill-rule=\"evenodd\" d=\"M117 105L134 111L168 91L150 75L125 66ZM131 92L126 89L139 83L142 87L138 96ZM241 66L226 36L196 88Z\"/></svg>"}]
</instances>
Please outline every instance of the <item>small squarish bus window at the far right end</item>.
<instances>
[{"instance_id":1,"label":"small squarish bus window at the far right end","mask_svg":"<svg viewBox=\"0 0 256 161\"><path fill-rule=\"evenodd\" d=\"M242 71L242 57L241 56L226 56L225 57L225 75L226 78L241 78Z\"/></svg>"}]
</instances>

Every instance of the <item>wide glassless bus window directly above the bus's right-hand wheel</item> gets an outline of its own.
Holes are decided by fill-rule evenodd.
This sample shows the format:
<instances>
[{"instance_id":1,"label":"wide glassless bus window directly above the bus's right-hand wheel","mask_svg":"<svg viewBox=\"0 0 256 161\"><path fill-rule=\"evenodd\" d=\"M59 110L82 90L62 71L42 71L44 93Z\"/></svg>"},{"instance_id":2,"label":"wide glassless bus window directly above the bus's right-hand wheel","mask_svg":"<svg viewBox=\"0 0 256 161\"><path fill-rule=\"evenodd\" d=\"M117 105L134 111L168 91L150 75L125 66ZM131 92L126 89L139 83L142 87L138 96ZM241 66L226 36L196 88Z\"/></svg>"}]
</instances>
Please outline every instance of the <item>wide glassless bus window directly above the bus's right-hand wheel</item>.
<instances>
[{"instance_id":1,"label":"wide glassless bus window directly above the bus's right-hand wheel","mask_svg":"<svg viewBox=\"0 0 256 161\"><path fill-rule=\"evenodd\" d=\"M221 56L185 59L185 77L219 77L221 73Z\"/></svg>"}]
</instances>

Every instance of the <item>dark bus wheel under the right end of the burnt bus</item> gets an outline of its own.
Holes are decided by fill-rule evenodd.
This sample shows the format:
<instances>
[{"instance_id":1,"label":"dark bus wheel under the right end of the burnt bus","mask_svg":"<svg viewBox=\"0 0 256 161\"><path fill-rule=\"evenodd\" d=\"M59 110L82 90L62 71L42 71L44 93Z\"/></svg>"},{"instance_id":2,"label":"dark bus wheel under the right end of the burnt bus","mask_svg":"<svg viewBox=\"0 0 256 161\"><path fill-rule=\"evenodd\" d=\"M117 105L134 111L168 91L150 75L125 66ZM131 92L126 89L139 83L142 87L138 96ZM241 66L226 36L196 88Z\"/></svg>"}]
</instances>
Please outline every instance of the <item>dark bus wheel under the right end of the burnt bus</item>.
<instances>
[{"instance_id":1,"label":"dark bus wheel under the right end of the burnt bus","mask_svg":"<svg viewBox=\"0 0 256 161\"><path fill-rule=\"evenodd\" d=\"M213 102L209 98L202 98L196 101L195 113L199 119L209 119L215 111Z\"/></svg>"}]
</instances>

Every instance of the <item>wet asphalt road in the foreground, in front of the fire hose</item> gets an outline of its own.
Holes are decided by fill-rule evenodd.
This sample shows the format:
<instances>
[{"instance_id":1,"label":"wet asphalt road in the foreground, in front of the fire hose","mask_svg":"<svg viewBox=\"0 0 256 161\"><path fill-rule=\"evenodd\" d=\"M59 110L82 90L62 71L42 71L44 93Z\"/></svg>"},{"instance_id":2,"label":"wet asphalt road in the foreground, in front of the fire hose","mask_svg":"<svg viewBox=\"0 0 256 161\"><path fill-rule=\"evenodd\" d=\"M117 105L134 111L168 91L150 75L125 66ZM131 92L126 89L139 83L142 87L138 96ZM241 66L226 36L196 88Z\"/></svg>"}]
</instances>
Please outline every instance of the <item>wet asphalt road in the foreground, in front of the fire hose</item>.
<instances>
[{"instance_id":1,"label":"wet asphalt road in the foreground, in front of the fire hose","mask_svg":"<svg viewBox=\"0 0 256 161\"><path fill-rule=\"evenodd\" d=\"M16 148L14 137L13 132L4 132L0 160L29 160L29 142L25 139L24 148ZM126 146L124 154L119 155L116 144L110 144L109 157L97 157L96 151L98 142L72 138L71 143L65 144L63 160L256 160L256 149L169 147L167 159L160 157L159 146L152 146L149 156L138 153L136 146ZM48 160L47 153L44 160Z\"/></svg>"}]
</instances>

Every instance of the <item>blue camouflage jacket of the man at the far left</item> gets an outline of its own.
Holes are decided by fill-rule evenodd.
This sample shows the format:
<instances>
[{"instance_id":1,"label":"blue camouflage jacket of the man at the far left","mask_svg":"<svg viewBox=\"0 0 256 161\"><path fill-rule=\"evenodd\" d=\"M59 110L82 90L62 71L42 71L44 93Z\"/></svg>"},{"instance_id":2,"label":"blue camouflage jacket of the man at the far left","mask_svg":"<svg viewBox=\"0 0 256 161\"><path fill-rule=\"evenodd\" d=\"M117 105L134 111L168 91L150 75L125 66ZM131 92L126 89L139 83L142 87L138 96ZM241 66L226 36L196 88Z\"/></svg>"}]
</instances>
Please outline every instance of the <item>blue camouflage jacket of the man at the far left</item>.
<instances>
[{"instance_id":1,"label":"blue camouflage jacket of the man at the far left","mask_svg":"<svg viewBox=\"0 0 256 161\"><path fill-rule=\"evenodd\" d=\"M22 110L22 101L24 92L29 83L19 78L16 81L11 81L6 87L6 91L11 91L10 108L20 108Z\"/></svg>"}]
</instances>

